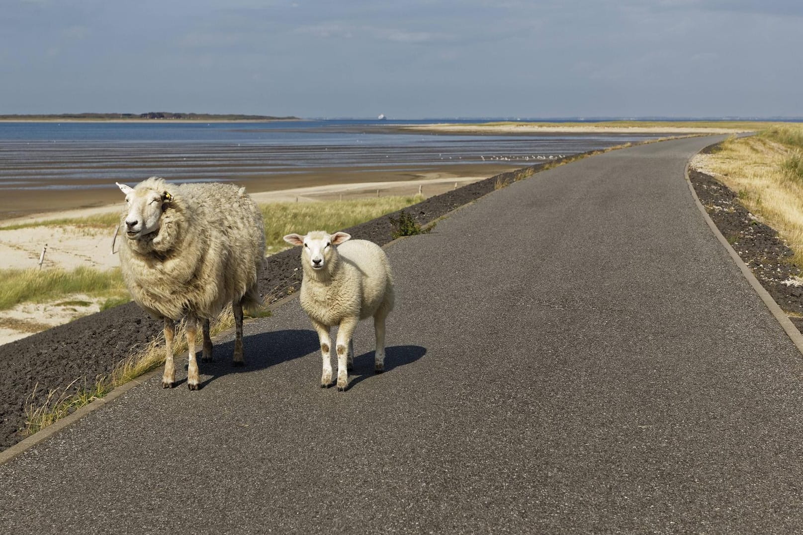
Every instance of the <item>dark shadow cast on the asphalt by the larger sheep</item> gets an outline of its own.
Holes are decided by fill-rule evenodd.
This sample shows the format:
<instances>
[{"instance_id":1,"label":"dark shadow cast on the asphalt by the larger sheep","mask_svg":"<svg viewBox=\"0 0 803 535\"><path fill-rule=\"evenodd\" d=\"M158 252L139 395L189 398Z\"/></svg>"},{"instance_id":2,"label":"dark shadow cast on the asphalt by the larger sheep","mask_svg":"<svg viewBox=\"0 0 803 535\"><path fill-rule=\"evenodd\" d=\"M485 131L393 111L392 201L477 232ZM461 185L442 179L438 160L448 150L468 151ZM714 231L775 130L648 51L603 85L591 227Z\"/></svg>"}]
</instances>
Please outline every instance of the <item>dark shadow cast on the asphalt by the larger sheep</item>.
<instances>
[{"instance_id":1,"label":"dark shadow cast on the asphalt by the larger sheep","mask_svg":"<svg viewBox=\"0 0 803 535\"><path fill-rule=\"evenodd\" d=\"M211 375L198 387L206 387L214 379L223 375L262 370L274 364L304 357L313 351L320 351L320 346L318 345L318 334L314 330L292 329L243 336L243 350L246 363L241 367L235 367L231 363L231 355L234 354L234 340L215 344L214 361L211 363L202 363L201 351L198 351L198 367L201 375Z\"/></svg>"}]
</instances>

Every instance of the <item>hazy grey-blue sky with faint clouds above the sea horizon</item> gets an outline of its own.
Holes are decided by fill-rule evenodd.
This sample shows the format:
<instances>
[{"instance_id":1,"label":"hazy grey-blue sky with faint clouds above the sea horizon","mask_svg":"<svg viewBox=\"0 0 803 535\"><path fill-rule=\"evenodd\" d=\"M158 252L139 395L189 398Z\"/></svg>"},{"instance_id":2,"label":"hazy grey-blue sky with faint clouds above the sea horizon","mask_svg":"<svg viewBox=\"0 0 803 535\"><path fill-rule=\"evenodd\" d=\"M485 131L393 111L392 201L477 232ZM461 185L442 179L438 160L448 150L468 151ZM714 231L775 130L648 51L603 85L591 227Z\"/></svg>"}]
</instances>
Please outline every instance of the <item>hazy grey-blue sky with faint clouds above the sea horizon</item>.
<instances>
[{"instance_id":1,"label":"hazy grey-blue sky with faint clouds above the sea horizon","mask_svg":"<svg viewBox=\"0 0 803 535\"><path fill-rule=\"evenodd\" d=\"M799 0L0 0L0 113L803 116Z\"/></svg>"}]
</instances>

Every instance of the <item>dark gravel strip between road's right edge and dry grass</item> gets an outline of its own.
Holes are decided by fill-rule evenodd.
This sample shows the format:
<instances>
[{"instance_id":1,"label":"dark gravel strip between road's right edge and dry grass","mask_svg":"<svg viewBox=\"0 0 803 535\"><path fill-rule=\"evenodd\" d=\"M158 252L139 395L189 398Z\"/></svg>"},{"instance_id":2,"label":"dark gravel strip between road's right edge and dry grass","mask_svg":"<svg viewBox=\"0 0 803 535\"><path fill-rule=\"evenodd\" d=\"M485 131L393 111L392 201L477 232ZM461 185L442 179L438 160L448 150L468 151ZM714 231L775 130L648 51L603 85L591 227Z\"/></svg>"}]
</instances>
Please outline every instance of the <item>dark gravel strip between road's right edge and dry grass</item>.
<instances>
[{"instance_id":1,"label":"dark gravel strip between road's right edge and dry grass","mask_svg":"<svg viewBox=\"0 0 803 535\"><path fill-rule=\"evenodd\" d=\"M801 269L792 262L794 251L789 245L775 229L758 221L741 205L739 196L713 176L690 169L689 179L719 232L750 267L764 290L781 310L803 314L803 286L784 284L801 276ZM803 332L803 318L789 319Z\"/></svg>"}]
</instances>

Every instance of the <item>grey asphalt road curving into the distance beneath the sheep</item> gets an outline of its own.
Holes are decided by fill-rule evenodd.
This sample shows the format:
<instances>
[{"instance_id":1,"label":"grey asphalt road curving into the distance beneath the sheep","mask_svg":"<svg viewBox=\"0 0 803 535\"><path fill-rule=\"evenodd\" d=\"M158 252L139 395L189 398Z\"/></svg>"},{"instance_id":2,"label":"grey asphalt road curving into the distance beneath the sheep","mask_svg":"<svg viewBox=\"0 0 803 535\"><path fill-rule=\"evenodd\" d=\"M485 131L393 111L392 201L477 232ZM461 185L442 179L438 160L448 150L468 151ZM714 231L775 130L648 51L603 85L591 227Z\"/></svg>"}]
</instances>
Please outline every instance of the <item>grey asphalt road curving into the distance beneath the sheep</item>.
<instances>
[{"instance_id":1,"label":"grey asphalt road curving into the distance beneath the sheep","mask_svg":"<svg viewBox=\"0 0 803 535\"><path fill-rule=\"evenodd\" d=\"M349 391L320 389L289 302L246 368L227 341L202 390L155 378L0 467L0 532L800 533L803 360L692 200L709 143L397 241L385 374L364 322Z\"/></svg>"}]
</instances>

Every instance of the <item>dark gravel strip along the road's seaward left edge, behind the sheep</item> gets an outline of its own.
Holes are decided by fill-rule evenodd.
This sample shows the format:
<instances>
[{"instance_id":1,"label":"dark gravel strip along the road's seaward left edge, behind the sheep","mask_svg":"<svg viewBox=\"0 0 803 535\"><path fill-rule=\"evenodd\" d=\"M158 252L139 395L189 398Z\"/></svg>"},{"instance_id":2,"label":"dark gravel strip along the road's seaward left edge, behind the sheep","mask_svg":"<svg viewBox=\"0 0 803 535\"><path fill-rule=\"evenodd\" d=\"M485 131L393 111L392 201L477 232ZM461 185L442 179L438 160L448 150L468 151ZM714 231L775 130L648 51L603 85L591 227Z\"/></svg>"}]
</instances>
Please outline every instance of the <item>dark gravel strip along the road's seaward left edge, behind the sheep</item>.
<instances>
[{"instance_id":1,"label":"dark gravel strip along the road's seaward left edge, behind the sheep","mask_svg":"<svg viewBox=\"0 0 803 535\"><path fill-rule=\"evenodd\" d=\"M577 156L568 156L573 158ZM556 164L564 159L550 160ZM498 182L512 182L532 175L543 164L503 172L462 188L430 197L405 209L421 225L444 216L494 191ZM401 212L401 211L400 211ZM345 229L354 237L384 245L393 240L391 217L378 217ZM300 231L304 229L299 229ZM335 231L337 229L328 229ZM283 298L300 284L298 252L289 249L267 258L267 269L259 287L267 301ZM289 291L288 291L289 290ZM0 346L0 451L17 444L25 426L25 404L37 386L35 403L44 403L47 392L73 385L77 390L92 385L99 375L108 374L116 363L161 335L161 322L153 320L130 302L74 322L32 334Z\"/></svg>"}]
</instances>

